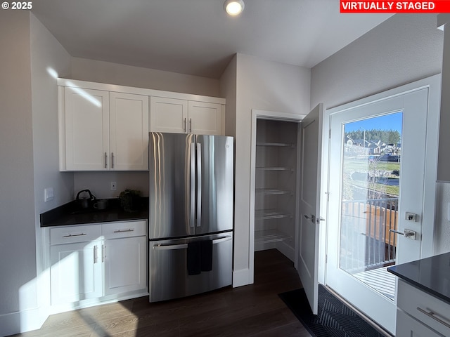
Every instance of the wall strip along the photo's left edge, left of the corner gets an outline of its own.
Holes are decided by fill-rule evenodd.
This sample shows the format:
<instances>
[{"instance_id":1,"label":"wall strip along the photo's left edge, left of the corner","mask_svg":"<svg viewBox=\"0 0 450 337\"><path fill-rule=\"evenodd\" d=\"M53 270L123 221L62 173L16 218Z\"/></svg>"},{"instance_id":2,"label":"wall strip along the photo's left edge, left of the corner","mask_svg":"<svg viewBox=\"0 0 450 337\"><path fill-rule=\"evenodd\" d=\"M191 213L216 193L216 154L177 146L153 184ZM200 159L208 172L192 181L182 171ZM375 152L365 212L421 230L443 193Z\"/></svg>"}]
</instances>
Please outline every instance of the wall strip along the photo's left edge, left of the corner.
<instances>
[{"instance_id":1,"label":"wall strip along the photo's left edge, left of the corner","mask_svg":"<svg viewBox=\"0 0 450 337\"><path fill-rule=\"evenodd\" d=\"M30 13L0 11L0 335L36 308ZM25 292L24 292L25 291ZM27 295L24 298L23 295Z\"/></svg>"}]
</instances>

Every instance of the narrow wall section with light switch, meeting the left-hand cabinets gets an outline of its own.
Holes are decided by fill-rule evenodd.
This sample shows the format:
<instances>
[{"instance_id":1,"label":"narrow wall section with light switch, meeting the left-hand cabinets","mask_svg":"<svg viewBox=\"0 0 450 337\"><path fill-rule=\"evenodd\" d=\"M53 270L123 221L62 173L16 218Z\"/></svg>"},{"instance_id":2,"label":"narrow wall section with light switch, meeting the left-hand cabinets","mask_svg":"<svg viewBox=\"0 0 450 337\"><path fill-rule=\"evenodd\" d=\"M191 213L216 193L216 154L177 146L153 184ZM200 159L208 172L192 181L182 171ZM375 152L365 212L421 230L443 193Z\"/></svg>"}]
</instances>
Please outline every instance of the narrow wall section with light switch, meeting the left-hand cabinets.
<instances>
[{"instance_id":1,"label":"narrow wall section with light switch, meeting the left-hand cabinets","mask_svg":"<svg viewBox=\"0 0 450 337\"><path fill-rule=\"evenodd\" d=\"M36 227L37 289L39 312L29 328L37 329L50 305L49 270L45 265L44 229L39 214L72 200L73 173L59 171L58 86L56 77L70 73L70 55L44 25L30 14L32 126L34 157L34 216ZM54 199L44 202L44 188L53 187ZM28 329L28 328L25 328Z\"/></svg>"}]
</instances>

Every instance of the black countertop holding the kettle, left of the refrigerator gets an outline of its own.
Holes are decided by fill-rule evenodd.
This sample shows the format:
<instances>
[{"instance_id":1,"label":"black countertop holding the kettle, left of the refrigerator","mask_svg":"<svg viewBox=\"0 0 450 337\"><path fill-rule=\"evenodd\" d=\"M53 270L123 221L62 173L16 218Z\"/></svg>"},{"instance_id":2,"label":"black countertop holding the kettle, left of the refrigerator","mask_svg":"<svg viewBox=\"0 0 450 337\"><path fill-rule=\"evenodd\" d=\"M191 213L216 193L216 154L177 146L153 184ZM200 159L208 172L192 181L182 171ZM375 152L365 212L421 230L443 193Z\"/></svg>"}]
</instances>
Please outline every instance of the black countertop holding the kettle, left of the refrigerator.
<instances>
[{"instance_id":1,"label":"black countertop holding the kettle, left of the refrigerator","mask_svg":"<svg viewBox=\"0 0 450 337\"><path fill-rule=\"evenodd\" d=\"M108 206L101 211L80 209L75 201L41 213L41 227L80 225L83 223L108 223L113 221L148 220L148 198L141 198L138 210L126 212L119 199L107 199Z\"/></svg>"}]
</instances>

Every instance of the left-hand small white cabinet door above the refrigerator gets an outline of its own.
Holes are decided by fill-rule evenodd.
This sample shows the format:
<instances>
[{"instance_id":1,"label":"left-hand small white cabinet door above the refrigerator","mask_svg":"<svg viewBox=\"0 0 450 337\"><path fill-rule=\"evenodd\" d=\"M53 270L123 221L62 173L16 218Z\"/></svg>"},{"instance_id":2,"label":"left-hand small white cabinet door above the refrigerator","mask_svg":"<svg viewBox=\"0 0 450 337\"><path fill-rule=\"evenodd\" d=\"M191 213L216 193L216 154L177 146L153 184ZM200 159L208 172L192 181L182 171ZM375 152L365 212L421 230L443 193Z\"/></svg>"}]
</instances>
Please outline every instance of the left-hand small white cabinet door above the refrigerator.
<instances>
[{"instance_id":1,"label":"left-hand small white cabinet door above the refrigerator","mask_svg":"<svg viewBox=\"0 0 450 337\"><path fill-rule=\"evenodd\" d=\"M186 133L188 101L150 97L150 131Z\"/></svg>"}]
</instances>

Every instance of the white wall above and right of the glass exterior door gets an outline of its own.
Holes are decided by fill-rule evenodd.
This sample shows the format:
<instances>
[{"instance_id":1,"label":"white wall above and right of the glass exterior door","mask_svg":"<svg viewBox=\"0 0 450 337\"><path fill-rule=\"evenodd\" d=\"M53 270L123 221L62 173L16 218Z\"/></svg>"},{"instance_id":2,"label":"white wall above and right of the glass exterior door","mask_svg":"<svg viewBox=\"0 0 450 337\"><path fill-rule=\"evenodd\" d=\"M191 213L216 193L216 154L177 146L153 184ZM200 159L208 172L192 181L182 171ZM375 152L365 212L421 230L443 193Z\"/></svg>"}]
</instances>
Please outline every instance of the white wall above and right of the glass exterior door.
<instances>
[{"instance_id":1,"label":"white wall above and right of the glass exterior door","mask_svg":"<svg viewBox=\"0 0 450 337\"><path fill-rule=\"evenodd\" d=\"M442 46L436 15L394 15L312 68L311 107L319 102L335 107L439 74ZM438 209L446 210L450 184L440 185L438 191ZM435 246L439 251L450 250L448 226L438 214Z\"/></svg>"}]
</instances>

